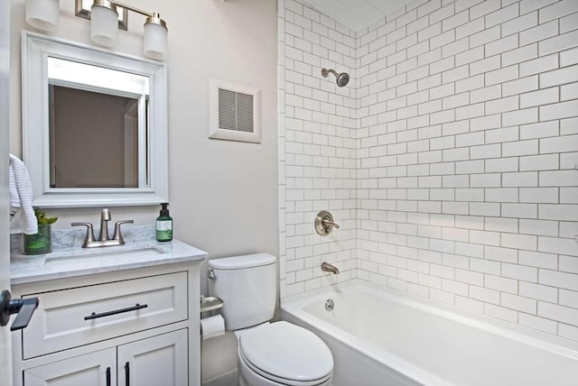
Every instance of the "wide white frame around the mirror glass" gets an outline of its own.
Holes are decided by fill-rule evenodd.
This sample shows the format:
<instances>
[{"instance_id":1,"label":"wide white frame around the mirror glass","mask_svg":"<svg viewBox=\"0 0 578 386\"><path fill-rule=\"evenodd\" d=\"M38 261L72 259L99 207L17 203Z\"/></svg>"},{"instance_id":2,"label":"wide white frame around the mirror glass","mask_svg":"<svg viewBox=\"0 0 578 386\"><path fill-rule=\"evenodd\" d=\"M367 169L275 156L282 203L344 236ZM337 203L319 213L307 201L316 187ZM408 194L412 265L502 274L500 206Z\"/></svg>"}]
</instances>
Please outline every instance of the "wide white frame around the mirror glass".
<instances>
[{"instance_id":1,"label":"wide white frame around the mirror glass","mask_svg":"<svg viewBox=\"0 0 578 386\"><path fill-rule=\"evenodd\" d=\"M118 69L150 78L149 187L50 187L47 75L49 56L79 61L108 69ZM168 201L167 69L164 63L23 31L22 66L23 161L30 173L34 206L146 206ZM103 156L106 157L106 154L103 154Z\"/></svg>"}]
</instances>

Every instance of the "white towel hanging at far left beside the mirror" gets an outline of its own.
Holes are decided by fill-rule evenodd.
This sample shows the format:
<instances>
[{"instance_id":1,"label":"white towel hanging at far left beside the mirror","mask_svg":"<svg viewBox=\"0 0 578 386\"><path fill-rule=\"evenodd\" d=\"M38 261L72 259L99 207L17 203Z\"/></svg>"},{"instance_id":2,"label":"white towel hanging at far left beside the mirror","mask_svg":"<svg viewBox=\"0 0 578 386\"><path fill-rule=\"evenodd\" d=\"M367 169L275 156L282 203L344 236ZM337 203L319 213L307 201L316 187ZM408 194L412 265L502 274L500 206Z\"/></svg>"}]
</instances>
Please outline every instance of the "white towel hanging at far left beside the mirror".
<instances>
[{"instance_id":1,"label":"white towel hanging at far left beside the mirror","mask_svg":"<svg viewBox=\"0 0 578 386\"><path fill-rule=\"evenodd\" d=\"M37 234L38 222L33 209L33 186L23 161L10 154L9 170L11 233ZM20 210L18 210L20 208ZM20 217L20 218L18 218Z\"/></svg>"}]
</instances>

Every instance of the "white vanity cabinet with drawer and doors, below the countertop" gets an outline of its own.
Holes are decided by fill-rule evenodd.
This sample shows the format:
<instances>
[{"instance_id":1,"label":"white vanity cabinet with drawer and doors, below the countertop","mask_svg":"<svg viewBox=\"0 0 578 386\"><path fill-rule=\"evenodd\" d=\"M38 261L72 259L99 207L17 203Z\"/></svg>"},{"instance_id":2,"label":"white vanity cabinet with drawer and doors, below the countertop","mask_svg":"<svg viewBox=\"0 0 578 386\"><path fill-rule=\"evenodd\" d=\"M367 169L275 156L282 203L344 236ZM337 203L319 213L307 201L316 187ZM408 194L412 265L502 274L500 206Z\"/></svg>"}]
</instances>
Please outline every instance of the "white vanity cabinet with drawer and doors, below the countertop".
<instances>
[{"instance_id":1,"label":"white vanity cabinet with drawer and doors, below the countertop","mask_svg":"<svg viewBox=\"0 0 578 386\"><path fill-rule=\"evenodd\" d=\"M13 283L14 386L200 385L199 261Z\"/></svg>"}]
</instances>

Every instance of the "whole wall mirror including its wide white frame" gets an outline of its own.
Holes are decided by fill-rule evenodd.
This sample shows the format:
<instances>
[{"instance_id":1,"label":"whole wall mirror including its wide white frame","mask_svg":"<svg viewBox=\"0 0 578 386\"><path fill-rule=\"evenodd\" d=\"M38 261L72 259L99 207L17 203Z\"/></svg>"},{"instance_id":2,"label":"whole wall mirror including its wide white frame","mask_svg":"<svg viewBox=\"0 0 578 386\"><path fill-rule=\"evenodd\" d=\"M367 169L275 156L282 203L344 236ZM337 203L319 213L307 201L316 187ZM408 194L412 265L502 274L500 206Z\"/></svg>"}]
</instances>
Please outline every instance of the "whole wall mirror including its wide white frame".
<instances>
[{"instance_id":1,"label":"whole wall mirror including its wide white frame","mask_svg":"<svg viewBox=\"0 0 578 386\"><path fill-rule=\"evenodd\" d=\"M38 207L168 199L166 68L23 32L23 161Z\"/></svg>"}]
</instances>

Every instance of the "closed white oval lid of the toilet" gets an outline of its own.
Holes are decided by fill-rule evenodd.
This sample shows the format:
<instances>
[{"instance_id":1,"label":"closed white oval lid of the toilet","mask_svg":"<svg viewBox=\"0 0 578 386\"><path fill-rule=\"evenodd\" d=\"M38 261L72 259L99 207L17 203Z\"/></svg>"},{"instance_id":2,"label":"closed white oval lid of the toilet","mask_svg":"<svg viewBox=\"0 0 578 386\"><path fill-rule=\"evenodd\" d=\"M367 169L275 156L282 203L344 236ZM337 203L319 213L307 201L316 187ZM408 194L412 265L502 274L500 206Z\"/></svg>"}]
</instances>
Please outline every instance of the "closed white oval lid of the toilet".
<instances>
[{"instance_id":1,"label":"closed white oval lid of the toilet","mask_svg":"<svg viewBox=\"0 0 578 386\"><path fill-rule=\"evenodd\" d=\"M284 384L318 384L333 370L331 351L319 336L283 321L241 335L239 352L253 370Z\"/></svg>"}]
</instances>

